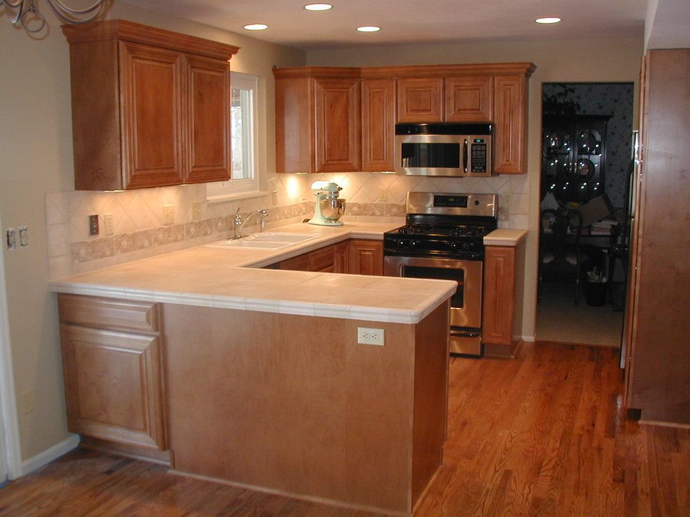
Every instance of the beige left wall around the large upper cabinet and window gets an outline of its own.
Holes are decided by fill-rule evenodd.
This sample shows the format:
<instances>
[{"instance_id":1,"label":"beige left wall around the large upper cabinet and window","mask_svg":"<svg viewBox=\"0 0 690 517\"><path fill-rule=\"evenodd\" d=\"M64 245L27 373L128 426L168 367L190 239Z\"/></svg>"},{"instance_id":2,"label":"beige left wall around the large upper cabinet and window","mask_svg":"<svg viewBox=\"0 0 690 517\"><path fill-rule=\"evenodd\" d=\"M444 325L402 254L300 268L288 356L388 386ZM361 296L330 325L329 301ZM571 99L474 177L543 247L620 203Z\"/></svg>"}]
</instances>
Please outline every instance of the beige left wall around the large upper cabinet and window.
<instances>
[{"instance_id":1,"label":"beige left wall around the large upper cabinet and window","mask_svg":"<svg viewBox=\"0 0 690 517\"><path fill-rule=\"evenodd\" d=\"M22 459L68 436L61 374L56 298L47 291L44 196L73 190L69 49L47 3L49 32L32 39L0 11L0 215L4 229L26 224L29 246L3 246L10 341L17 397L33 392L35 410L19 415ZM158 26L241 47L231 68L258 75L266 98L259 113L262 187L275 172L271 67L305 64L295 49L187 22L116 2L109 17ZM98 92L94 92L98 95Z\"/></svg>"}]
</instances>

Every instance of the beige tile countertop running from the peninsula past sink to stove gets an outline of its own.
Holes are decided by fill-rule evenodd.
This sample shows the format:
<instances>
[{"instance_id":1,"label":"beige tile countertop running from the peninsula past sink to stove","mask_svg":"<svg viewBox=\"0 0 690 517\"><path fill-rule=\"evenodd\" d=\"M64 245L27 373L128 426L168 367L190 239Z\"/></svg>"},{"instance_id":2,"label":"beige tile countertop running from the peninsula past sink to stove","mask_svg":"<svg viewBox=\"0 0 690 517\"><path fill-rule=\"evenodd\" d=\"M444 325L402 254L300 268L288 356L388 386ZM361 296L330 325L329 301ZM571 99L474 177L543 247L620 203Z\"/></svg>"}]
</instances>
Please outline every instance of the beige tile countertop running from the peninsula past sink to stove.
<instances>
[{"instance_id":1,"label":"beige tile countertop running from the peninsula past sink to stove","mask_svg":"<svg viewBox=\"0 0 690 517\"><path fill-rule=\"evenodd\" d=\"M52 291L148 302L414 324L454 293L447 280L259 269L348 238L381 240L399 223L289 224L319 237L278 250L201 245L49 282Z\"/></svg>"}]
</instances>

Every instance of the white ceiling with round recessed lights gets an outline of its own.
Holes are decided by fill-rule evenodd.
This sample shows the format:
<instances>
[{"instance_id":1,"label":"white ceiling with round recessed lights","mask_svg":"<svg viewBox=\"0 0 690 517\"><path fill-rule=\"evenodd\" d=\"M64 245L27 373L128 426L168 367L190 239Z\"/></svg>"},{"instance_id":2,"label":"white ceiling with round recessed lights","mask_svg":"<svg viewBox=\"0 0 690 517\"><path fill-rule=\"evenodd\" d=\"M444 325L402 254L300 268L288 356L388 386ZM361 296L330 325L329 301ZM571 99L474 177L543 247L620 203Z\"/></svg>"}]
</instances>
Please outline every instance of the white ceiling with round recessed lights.
<instances>
[{"instance_id":1,"label":"white ceiling with round recessed lights","mask_svg":"<svg viewBox=\"0 0 690 517\"><path fill-rule=\"evenodd\" d=\"M125 0L261 40L296 47L353 47L481 40L642 36L647 0ZM309 1L333 8L310 12ZM679 0L686 3L688 0ZM537 17L558 16L544 26ZM246 31L245 24L268 24ZM378 25L377 33L359 33Z\"/></svg>"}]
</instances>

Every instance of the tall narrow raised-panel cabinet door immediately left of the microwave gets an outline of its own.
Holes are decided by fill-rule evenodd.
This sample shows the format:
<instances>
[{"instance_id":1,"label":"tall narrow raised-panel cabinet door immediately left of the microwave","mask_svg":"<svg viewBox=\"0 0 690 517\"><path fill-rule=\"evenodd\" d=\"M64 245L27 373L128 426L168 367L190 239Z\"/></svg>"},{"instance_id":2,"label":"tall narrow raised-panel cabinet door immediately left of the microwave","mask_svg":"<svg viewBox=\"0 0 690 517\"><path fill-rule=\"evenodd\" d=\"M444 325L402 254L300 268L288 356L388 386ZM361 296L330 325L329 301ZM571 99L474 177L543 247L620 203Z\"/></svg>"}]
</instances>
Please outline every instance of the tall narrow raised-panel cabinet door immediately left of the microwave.
<instances>
[{"instance_id":1,"label":"tall narrow raised-panel cabinet door immediately left of the microwave","mask_svg":"<svg viewBox=\"0 0 690 517\"><path fill-rule=\"evenodd\" d=\"M363 79L362 171L392 171L395 81Z\"/></svg>"}]
</instances>

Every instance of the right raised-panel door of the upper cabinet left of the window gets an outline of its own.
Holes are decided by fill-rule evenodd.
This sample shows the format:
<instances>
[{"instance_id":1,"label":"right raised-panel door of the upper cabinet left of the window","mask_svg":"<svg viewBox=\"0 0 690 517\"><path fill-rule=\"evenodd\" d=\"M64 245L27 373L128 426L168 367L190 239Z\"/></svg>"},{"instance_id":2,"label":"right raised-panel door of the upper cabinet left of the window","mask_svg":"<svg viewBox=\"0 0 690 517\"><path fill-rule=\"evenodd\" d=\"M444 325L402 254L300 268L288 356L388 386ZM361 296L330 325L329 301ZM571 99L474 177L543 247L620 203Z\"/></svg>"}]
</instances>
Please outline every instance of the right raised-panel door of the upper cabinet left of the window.
<instances>
[{"instance_id":1,"label":"right raised-panel door of the upper cabinet left of the window","mask_svg":"<svg viewBox=\"0 0 690 517\"><path fill-rule=\"evenodd\" d=\"M227 61L187 56L190 143L185 183L230 178L230 70Z\"/></svg>"}]
</instances>

